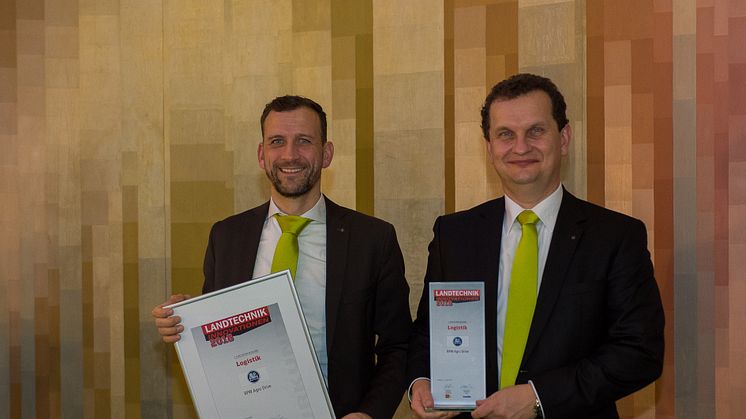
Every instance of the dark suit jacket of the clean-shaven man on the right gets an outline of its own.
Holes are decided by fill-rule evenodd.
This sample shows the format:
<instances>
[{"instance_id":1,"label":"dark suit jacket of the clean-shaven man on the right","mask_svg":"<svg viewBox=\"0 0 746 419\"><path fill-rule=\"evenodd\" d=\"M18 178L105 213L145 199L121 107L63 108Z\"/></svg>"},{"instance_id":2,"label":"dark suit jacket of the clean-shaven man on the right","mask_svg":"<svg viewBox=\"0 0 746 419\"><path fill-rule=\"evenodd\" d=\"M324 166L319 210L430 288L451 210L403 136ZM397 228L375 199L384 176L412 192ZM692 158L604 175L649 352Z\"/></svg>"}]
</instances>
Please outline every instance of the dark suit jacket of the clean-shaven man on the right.
<instances>
[{"instance_id":1,"label":"dark suit jacket of the clean-shaven man on the right","mask_svg":"<svg viewBox=\"0 0 746 419\"><path fill-rule=\"evenodd\" d=\"M497 391L497 281L505 201L438 218L410 340L409 379L429 376L429 282L485 282L487 395ZM644 224L564 191L517 383L546 415L616 418L615 401L660 376L663 309Z\"/></svg>"}]
</instances>

